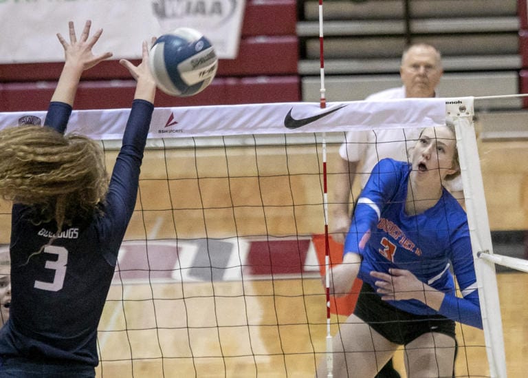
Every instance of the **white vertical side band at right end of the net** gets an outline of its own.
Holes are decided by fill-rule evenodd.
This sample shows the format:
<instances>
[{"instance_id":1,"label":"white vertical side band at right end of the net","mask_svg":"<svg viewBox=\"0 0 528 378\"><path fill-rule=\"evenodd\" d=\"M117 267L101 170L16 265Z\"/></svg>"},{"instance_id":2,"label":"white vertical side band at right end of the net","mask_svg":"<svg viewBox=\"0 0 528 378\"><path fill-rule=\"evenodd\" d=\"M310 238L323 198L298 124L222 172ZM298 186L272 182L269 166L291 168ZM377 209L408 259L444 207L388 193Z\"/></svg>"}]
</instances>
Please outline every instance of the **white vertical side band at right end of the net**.
<instances>
[{"instance_id":1,"label":"white vertical side band at right end of the net","mask_svg":"<svg viewBox=\"0 0 528 378\"><path fill-rule=\"evenodd\" d=\"M470 230L478 296L481 302L486 353L490 377L506 377L503 325L496 282L495 264L478 258L483 251L493 254L492 237L482 180L481 163L473 124L474 98L445 98L446 116L452 117L464 188L467 224Z\"/></svg>"}]
</instances>

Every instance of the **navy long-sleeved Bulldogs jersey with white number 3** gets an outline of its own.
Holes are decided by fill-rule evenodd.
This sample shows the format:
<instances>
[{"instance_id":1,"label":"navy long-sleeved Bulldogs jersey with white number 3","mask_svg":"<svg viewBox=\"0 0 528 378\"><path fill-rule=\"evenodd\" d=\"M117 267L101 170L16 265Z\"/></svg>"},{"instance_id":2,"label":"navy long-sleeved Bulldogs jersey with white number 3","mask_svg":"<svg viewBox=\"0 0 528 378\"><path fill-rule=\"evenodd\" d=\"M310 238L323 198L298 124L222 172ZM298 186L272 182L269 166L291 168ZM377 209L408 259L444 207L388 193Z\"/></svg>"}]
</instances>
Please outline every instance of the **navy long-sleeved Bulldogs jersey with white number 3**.
<instances>
[{"instance_id":1,"label":"navy long-sleeved Bulldogs jersey with white number 3","mask_svg":"<svg viewBox=\"0 0 528 378\"><path fill-rule=\"evenodd\" d=\"M71 112L65 103L51 103L45 124L63 133ZM56 235L55 222L34 224L30 207L12 207L12 302L0 355L97 366L98 323L135 207L152 112L153 104L133 101L103 213L74 220Z\"/></svg>"}]
</instances>

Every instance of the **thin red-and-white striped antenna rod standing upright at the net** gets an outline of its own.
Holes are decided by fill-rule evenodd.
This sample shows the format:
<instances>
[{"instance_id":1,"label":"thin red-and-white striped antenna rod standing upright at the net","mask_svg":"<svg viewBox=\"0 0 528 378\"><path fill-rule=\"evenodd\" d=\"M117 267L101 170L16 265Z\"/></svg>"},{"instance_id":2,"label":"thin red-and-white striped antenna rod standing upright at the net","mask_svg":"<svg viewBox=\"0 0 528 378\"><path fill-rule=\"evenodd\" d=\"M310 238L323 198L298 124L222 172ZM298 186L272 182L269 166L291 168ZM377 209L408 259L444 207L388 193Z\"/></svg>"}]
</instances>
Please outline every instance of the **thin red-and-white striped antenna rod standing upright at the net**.
<instances>
[{"instance_id":1,"label":"thin red-and-white striped antenna rod standing upright at the net","mask_svg":"<svg viewBox=\"0 0 528 378\"><path fill-rule=\"evenodd\" d=\"M323 14L322 14L322 0L319 0L319 61L320 61L320 100L319 105L321 109L327 107L326 89L325 89L325 48L323 38ZM332 335L330 331L330 242L328 236L328 191L327 191L327 138L326 133L322 133L321 140L322 149L322 207L325 212L325 295L327 300L327 377L333 377L333 355L332 355Z\"/></svg>"}]
</instances>

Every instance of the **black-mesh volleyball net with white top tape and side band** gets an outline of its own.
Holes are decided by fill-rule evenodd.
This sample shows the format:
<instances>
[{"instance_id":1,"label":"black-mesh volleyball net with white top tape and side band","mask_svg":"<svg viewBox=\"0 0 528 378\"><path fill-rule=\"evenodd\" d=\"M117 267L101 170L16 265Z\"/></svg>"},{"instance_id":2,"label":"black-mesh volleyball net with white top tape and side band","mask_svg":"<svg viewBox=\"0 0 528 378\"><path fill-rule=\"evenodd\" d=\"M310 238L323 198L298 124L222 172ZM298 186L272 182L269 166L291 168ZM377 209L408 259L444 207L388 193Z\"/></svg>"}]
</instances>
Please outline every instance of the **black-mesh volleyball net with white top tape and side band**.
<instances>
[{"instance_id":1,"label":"black-mesh volleyball net with white top tape and side band","mask_svg":"<svg viewBox=\"0 0 528 378\"><path fill-rule=\"evenodd\" d=\"M77 111L68 132L101 140L110 170L128 114ZM313 376L328 352L327 310L333 333L347 311L327 302L321 279L325 255L331 249L333 264L342 252L325 238L325 192L344 174L333 165L344 133L434 127L446 116L456 125L484 323L484 332L457 325L456 376L505 377L500 261L473 98L155 109L136 209L100 322L98 377ZM44 118L0 114L2 125ZM1 210L8 244L10 209Z\"/></svg>"}]
</instances>

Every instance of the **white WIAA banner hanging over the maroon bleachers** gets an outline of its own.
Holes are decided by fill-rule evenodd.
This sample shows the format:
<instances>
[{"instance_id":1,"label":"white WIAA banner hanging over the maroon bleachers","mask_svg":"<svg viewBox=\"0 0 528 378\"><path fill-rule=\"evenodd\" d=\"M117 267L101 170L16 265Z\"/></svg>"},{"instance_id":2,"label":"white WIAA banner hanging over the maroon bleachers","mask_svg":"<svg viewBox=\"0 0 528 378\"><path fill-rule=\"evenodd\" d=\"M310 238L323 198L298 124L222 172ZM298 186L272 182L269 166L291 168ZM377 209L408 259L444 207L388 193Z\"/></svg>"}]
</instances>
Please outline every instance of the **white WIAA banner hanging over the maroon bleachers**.
<instances>
[{"instance_id":1,"label":"white WIAA banner hanging over the maroon bleachers","mask_svg":"<svg viewBox=\"0 0 528 378\"><path fill-rule=\"evenodd\" d=\"M64 60L56 34L68 40L68 21L77 34L85 21L103 34L94 52L113 59L139 59L142 41L175 28L195 28L221 59L238 54L245 0L0 0L0 64Z\"/></svg>"}]
</instances>

